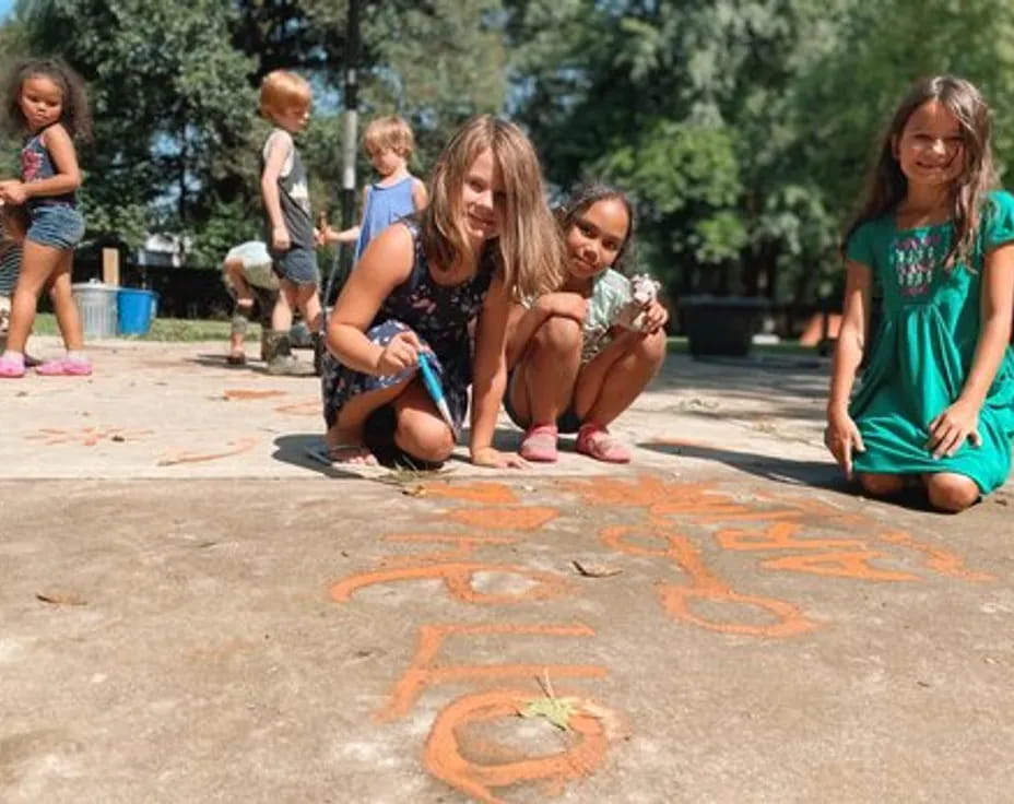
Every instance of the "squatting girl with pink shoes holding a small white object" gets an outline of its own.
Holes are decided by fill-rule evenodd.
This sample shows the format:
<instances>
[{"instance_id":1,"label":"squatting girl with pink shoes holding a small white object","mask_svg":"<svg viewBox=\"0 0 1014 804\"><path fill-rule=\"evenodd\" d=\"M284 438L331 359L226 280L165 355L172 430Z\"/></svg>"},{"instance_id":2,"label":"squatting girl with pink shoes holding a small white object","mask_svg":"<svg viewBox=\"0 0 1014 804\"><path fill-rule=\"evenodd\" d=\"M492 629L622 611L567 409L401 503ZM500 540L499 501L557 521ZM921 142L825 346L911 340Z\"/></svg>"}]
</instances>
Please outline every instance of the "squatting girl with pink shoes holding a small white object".
<instances>
[{"instance_id":1,"label":"squatting girl with pink shoes holding a small white object","mask_svg":"<svg viewBox=\"0 0 1014 804\"><path fill-rule=\"evenodd\" d=\"M636 327L620 323L632 303L622 271L634 233L634 210L621 190L579 187L559 218L567 276L511 312L504 406L527 430L519 450L527 460L555 461L563 431L577 433L578 452L626 463L629 451L606 427L662 365L669 312L650 300Z\"/></svg>"}]
</instances>

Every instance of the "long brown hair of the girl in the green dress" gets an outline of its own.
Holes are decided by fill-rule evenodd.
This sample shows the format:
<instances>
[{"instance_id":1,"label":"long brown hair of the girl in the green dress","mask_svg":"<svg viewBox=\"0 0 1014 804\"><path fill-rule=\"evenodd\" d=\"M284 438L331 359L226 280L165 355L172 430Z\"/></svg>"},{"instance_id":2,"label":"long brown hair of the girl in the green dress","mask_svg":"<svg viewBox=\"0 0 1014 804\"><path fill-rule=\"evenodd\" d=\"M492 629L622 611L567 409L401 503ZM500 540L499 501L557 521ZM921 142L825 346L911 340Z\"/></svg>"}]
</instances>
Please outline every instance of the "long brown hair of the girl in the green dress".
<instances>
[{"instance_id":1,"label":"long brown hair of the girl in the green dress","mask_svg":"<svg viewBox=\"0 0 1014 804\"><path fill-rule=\"evenodd\" d=\"M986 193L997 181L990 144L989 106L975 85L955 75L933 75L917 81L901 100L884 134L876 163L870 172L862 208L849 226L845 241L848 243L863 223L891 212L905 199L908 180L895 156L895 143L900 139L908 118L929 100L942 104L962 128L965 164L950 188L954 237L944 258L944 268L950 270L956 262L968 263Z\"/></svg>"}]
</instances>

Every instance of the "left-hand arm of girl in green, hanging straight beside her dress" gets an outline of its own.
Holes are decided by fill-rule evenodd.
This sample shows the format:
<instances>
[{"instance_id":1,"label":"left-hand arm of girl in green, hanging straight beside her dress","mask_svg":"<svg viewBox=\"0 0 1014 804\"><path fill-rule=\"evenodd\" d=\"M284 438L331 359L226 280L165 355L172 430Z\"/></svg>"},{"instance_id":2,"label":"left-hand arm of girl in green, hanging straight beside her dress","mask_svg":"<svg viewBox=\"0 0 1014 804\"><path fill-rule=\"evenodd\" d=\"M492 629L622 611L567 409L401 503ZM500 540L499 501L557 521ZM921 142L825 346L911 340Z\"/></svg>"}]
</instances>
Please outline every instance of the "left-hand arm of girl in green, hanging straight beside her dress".
<instances>
[{"instance_id":1,"label":"left-hand arm of girl in green, hanging straight beside her dress","mask_svg":"<svg viewBox=\"0 0 1014 804\"><path fill-rule=\"evenodd\" d=\"M862 362L866 327L870 321L870 288L872 271L861 262L849 260L845 282L845 307L838 344L832 363L830 393L827 400L825 442L835 460L852 476L852 450L865 451L859 427L849 416L849 398L856 382L856 371Z\"/></svg>"}]
</instances>

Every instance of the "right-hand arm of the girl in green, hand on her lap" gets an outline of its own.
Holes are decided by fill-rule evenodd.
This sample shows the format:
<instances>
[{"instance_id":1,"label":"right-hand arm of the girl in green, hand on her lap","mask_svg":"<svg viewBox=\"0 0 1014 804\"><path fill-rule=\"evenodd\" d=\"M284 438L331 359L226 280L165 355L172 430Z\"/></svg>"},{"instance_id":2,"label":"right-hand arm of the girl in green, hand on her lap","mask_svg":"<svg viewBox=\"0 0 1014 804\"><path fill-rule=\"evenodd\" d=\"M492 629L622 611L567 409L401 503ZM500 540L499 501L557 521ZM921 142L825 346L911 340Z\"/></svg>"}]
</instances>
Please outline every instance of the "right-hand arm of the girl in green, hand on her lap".
<instances>
[{"instance_id":1,"label":"right-hand arm of the girl in green, hand on her lap","mask_svg":"<svg viewBox=\"0 0 1014 804\"><path fill-rule=\"evenodd\" d=\"M982 322L971 369L960 395L929 424L927 447L933 456L953 456L968 438L978 447L979 411L997 377L1011 340L1014 315L1014 244L1001 246L986 258L982 275Z\"/></svg>"}]
</instances>

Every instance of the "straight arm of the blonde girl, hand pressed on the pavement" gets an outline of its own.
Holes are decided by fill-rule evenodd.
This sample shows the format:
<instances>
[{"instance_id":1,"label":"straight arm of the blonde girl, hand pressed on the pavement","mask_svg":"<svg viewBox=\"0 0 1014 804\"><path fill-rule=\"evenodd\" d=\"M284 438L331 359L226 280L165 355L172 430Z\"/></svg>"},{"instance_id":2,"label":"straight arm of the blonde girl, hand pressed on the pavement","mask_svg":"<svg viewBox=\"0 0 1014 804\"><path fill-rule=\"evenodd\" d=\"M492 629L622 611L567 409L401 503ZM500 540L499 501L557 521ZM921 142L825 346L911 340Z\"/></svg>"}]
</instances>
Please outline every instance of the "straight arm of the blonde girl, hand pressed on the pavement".
<instances>
[{"instance_id":1,"label":"straight arm of the blonde girl, hand pressed on the pavement","mask_svg":"<svg viewBox=\"0 0 1014 804\"><path fill-rule=\"evenodd\" d=\"M523 466L524 460L493 447L496 414L507 387L505 347L510 293L503 277L493 277L475 327L475 355L472 359L472 433L469 451L477 466Z\"/></svg>"}]
</instances>

